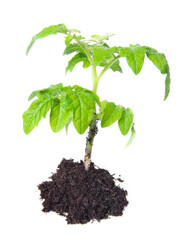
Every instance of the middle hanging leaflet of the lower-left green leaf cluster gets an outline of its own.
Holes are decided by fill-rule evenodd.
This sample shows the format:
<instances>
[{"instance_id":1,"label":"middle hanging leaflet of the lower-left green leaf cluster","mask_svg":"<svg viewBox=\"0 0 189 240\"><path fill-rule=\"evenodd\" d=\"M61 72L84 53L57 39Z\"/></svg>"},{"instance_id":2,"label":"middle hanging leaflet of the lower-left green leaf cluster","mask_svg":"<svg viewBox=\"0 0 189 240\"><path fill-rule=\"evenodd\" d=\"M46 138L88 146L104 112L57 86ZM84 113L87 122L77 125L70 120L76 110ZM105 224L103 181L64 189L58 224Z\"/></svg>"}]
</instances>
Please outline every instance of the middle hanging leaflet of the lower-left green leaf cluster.
<instances>
[{"instance_id":1,"label":"middle hanging leaflet of the lower-left green leaf cluster","mask_svg":"<svg viewBox=\"0 0 189 240\"><path fill-rule=\"evenodd\" d=\"M55 98L50 113L50 126L53 132L59 132L71 116L72 111L65 108L65 96L60 99Z\"/></svg>"}]
</instances>

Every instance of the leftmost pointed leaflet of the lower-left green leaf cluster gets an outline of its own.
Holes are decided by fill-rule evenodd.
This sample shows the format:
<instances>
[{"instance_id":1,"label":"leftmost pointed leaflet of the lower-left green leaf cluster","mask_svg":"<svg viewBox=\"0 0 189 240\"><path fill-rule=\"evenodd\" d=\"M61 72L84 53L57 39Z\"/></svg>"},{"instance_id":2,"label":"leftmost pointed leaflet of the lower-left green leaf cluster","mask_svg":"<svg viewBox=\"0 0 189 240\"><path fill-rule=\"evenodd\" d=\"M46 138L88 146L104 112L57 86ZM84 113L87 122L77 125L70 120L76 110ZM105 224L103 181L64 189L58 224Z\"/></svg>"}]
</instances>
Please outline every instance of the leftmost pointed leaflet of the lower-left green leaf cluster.
<instances>
[{"instance_id":1,"label":"leftmost pointed leaflet of the lower-left green leaf cluster","mask_svg":"<svg viewBox=\"0 0 189 240\"><path fill-rule=\"evenodd\" d=\"M23 129L26 134L29 134L39 121L46 117L47 112L52 106L51 98L37 99L32 102L28 110L26 110L23 117Z\"/></svg>"}]
</instances>

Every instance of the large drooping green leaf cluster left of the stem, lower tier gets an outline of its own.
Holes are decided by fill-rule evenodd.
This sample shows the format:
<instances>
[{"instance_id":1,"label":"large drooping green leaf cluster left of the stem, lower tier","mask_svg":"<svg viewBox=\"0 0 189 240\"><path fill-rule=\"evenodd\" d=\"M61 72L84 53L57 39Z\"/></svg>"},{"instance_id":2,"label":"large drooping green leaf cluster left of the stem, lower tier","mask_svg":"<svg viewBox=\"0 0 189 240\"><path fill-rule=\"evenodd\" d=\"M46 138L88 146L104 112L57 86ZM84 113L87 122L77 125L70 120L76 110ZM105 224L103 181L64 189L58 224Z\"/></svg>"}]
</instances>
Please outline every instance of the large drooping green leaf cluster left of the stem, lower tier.
<instances>
[{"instance_id":1,"label":"large drooping green leaf cluster left of the stem, lower tier","mask_svg":"<svg viewBox=\"0 0 189 240\"><path fill-rule=\"evenodd\" d=\"M50 110L50 126L53 132L68 127L71 120L78 133L83 134L88 128L98 96L92 91L79 87L63 87L62 83L31 93L28 100L37 97L23 113L24 132L29 134L39 121L46 117Z\"/></svg>"}]
</instances>

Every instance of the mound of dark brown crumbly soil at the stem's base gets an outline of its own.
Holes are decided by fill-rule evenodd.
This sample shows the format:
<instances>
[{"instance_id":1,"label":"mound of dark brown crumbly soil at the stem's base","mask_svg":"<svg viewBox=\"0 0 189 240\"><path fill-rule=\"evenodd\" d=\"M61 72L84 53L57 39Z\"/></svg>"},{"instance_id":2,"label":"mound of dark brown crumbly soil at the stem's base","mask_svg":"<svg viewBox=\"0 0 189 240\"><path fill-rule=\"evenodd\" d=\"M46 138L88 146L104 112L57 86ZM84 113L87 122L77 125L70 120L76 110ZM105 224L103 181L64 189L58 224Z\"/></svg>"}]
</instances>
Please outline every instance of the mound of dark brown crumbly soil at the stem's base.
<instances>
[{"instance_id":1,"label":"mound of dark brown crumbly soil at the stem's base","mask_svg":"<svg viewBox=\"0 0 189 240\"><path fill-rule=\"evenodd\" d=\"M63 159L50 179L38 186L44 200L42 211L65 216L68 224L122 216L128 204L127 191L116 186L116 179L107 170L93 163L85 171L82 161Z\"/></svg>"}]
</instances>

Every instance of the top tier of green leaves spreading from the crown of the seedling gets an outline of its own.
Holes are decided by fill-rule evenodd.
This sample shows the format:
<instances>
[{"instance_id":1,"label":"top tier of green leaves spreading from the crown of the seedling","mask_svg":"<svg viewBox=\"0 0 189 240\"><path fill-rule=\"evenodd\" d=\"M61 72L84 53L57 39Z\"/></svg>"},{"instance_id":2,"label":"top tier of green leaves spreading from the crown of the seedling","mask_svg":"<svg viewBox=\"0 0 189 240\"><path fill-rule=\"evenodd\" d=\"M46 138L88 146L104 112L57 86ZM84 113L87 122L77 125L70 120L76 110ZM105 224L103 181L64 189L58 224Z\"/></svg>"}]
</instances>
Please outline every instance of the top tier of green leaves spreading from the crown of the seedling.
<instances>
[{"instance_id":1,"label":"top tier of green leaves spreading from the crown of the seedling","mask_svg":"<svg viewBox=\"0 0 189 240\"><path fill-rule=\"evenodd\" d=\"M103 67L105 70L111 69L114 72L118 71L122 73L119 58L123 57L126 58L133 72L138 74L143 67L146 55L162 74L166 74L164 100L168 97L171 79L169 65L165 55L159 53L154 48L140 46L139 44L130 44L129 47L109 47L106 41L109 40L113 34L105 34L104 36L92 35L90 39L85 39L80 35L79 30L68 29L64 24L52 25L44 28L32 38L27 48L27 54L37 39L57 33L63 33L65 35L66 48L63 54L69 55L74 53L74 56L68 62L66 72L71 72L78 63L82 62L83 68L88 68L93 65L95 67Z\"/></svg>"}]
</instances>

